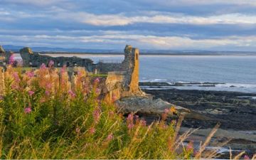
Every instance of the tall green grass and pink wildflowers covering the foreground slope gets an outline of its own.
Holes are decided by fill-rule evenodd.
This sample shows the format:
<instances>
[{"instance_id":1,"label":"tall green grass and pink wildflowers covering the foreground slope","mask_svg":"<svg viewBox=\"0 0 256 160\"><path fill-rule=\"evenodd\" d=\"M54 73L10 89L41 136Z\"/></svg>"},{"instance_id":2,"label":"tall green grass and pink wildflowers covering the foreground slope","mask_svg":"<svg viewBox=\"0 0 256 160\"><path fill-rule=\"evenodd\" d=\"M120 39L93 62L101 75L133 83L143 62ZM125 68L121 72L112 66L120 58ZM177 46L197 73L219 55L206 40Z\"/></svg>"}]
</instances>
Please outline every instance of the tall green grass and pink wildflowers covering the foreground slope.
<instances>
[{"instance_id":1,"label":"tall green grass and pink wildflowers covering the foreground slope","mask_svg":"<svg viewBox=\"0 0 256 160\"><path fill-rule=\"evenodd\" d=\"M0 97L1 159L199 159L218 128L195 151L192 142L183 145L193 130L178 135L183 116L169 125L170 110L152 124L133 113L124 118L100 98L102 80L82 82L84 75L70 82L65 68L7 68Z\"/></svg>"}]
</instances>

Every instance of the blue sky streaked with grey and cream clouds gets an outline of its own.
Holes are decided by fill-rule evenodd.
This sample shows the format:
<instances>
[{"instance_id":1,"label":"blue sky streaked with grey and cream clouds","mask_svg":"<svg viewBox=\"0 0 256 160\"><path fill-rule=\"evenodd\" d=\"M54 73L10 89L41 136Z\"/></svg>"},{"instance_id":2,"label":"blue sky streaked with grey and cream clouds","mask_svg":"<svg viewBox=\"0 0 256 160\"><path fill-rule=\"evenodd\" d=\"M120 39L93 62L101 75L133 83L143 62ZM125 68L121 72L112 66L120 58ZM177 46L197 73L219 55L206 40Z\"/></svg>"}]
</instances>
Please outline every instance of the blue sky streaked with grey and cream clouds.
<instances>
[{"instance_id":1,"label":"blue sky streaked with grey and cream clouds","mask_svg":"<svg viewBox=\"0 0 256 160\"><path fill-rule=\"evenodd\" d=\"M0 45L256 51L255 0L0 0Z\"/></svg>"}]
</instances>

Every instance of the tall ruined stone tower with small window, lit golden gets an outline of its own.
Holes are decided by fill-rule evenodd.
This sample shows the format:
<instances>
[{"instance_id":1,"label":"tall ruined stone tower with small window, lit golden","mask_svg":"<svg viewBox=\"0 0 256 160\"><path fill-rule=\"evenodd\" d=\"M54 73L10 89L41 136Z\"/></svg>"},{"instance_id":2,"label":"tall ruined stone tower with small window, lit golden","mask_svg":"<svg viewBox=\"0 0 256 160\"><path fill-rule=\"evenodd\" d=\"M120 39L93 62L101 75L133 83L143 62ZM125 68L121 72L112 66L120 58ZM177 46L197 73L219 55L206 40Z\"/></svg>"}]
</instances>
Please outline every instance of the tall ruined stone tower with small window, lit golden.
<instances>
[{"instance_id":1,"label":"tall ruined stone tower with small window, lit golden","mask_svg":"<svg viewBox=\"0 0 256 160\"><path fill-rule=\"evenodd\" d=\"M122 62L123 70L127 70L124 75L125 90L134 94L139 94L139 49L127 45L124 48L124 61Z\"/></svg>"}]
</instances>

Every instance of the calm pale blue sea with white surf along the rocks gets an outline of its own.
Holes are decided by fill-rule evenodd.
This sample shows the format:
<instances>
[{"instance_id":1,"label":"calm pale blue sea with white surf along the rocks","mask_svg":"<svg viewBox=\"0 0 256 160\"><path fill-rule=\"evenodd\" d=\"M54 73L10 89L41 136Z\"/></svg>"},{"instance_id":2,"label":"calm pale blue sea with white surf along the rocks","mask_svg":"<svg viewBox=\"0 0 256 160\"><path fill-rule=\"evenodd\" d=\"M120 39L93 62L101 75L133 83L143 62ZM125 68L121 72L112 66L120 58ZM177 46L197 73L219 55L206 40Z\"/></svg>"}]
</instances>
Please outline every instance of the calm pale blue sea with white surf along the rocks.
<instances>
[{"instance_id":1,"label":"calm pale blue sea with white surf along the rocks","mask_svg":"<svg viewBox=\"0 0 256 160\"><path fill-rule=\"evenodd\" d=\"M124 55L76 56L91 58L94 63L124 59ZM169 84L161 88L143 86L151 90L177 88L256 93L256 55L140 55L139 80Z\"/></svg>"}]
</instances>

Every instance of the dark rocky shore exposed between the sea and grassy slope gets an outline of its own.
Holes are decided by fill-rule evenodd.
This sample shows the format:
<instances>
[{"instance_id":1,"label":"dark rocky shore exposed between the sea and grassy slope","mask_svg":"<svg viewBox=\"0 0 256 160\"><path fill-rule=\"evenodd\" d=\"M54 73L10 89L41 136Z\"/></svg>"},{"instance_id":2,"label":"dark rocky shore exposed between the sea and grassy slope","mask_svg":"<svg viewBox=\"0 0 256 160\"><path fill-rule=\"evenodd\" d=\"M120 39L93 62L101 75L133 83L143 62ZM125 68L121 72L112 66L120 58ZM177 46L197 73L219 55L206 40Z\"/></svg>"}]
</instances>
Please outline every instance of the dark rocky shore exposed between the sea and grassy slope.
<instances>
[{"instance_id":1,"label":"dark rocky shore exposed between the sea and grassy slope","mask_svg":"<svg viewBox=\"0 0 256 160\"><path fill-rule=\"evenodd\" d=\"M205 139L210 129L220 123L220 129L213 140L225 141L231 139L224 146L224 158L229 158L229 147L233 152L247 151L247 154L256 153L256 94L243 92L206 91L206 90L177 90L174 88L162 89L164 83L141 82L141 86L159 85L159 90L143 91L153 95L153 100L162 100L190 110L183 120L181 132L189 128L200 128L193 134L192 139L198 142ZM143 88L143 87L142 87ZM159 119L157 114L141 116L149 122ZM174 119L170 117L169 120ZM196 144L197 142L195 142ZM234 153L235 154L235 153Z\"/></svg>"}]
</instances>

